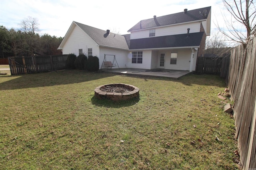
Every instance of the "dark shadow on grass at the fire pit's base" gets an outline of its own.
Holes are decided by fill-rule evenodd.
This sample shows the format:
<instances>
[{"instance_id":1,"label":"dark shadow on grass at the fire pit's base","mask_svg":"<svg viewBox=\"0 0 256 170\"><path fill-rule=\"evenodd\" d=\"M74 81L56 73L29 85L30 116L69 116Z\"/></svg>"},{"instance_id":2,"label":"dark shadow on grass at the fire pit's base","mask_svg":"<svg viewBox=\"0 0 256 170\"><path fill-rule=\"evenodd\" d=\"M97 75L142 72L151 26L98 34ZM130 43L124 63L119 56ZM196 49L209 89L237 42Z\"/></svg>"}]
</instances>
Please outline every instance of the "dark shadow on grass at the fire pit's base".
<instances>
[{"instance_id":1,"label":"dark shadow on grass at the fire pit's base","mask_svg":"<svg viewBox=\"0 0 256 170\"><path fill-rule=\"evenodd\" d=\"M140 98L133 98L125 101L112 101L108 99L98 99L95 96L92 97L91 102L95 106L107 107L107 108L120 108L136 105L140 101Z\"/></svg>"}]
</instances>

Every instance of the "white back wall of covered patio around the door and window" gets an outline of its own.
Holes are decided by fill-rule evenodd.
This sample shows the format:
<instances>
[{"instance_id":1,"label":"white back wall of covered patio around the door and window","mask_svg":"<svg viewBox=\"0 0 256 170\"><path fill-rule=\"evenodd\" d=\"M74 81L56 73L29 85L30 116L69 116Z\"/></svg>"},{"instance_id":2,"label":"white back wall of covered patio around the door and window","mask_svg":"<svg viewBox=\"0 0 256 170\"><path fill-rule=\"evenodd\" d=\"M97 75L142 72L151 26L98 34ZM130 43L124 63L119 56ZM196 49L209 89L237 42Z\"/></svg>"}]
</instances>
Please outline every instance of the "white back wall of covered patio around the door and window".
<instances>
[{"instance_id":1,"label":"white back wall of covered patio around the door and window","mask_svg":"<svg viewBox=\"0 0 256 170\"><path fill-rule=\"evenodd\" d=\"M196 52L196 51L194 51ZM159 59L160 54L165 53L165 60L164 60L164 68L168 70L190 70L190 60L191 60L191 49L177 49L177 50L167 50L167 51L159 51ZM170 64L171 53L178 53L177 56L177 63ZM196 55L195 55L196 57ZM193 66L195 66L196 60L194 58ZM159 67L159 64L158 64ZM192 68L193 70L193 68ZM194 69L195 70L195 69Z\"/></svg>"}]
</instances>

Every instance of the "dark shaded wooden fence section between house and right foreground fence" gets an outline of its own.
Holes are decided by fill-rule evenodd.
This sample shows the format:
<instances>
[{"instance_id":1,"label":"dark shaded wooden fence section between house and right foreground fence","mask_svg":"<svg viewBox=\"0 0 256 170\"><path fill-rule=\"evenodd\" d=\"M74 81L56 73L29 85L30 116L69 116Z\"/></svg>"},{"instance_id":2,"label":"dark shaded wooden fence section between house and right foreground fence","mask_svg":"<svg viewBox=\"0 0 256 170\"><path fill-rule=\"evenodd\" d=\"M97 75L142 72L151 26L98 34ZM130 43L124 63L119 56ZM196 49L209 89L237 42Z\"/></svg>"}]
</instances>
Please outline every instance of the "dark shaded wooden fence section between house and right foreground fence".
<instances>
[{"instance_id":1,"label":"dark shaded wooden fence section between house and right foreground fence","mask_svg":"<svg viewBox=\"0 0 256 170\"><path fill-rule=\"evenodd\" d=\"M220 74L220 77L226 78L228 75L230 55L223 55L218 58L198 57L196 73L197 74Z\"/></svg>"}]
</instances>

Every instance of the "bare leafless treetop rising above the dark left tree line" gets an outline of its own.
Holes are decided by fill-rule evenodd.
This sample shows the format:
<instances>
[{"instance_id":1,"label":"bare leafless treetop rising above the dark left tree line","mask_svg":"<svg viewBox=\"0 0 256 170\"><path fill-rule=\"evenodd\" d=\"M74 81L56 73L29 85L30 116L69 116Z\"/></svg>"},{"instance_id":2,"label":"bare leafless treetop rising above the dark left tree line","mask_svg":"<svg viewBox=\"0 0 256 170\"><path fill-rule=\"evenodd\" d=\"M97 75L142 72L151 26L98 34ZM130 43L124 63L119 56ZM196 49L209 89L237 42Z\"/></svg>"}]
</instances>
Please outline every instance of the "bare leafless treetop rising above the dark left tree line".
<instances>
[{"instance_id":1,"label":"bare leafless treetop rising above the dark left tree line","mask_svg":"<svg viewBox=\"0 0 256 170\"><path fill-rule=\"evenodd\" d=\"M37 18L28 16L28 18L20 22L20 25L25 33L34 34L39 31L39 23Z\"/></svg>"}]
</instances>

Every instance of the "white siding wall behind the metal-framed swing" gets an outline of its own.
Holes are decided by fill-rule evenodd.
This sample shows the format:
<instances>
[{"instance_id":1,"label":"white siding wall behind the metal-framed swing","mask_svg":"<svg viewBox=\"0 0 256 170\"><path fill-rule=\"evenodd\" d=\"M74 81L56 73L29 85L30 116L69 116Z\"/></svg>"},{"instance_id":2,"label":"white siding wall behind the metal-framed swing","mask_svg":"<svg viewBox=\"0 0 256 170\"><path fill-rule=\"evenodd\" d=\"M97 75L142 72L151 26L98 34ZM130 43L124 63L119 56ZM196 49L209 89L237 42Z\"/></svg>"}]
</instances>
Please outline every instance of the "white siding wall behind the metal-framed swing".
<instances>
[{"instance_id":1,"label":"white siding wall behind the metal-framed swing","mask_svg":"<svg viewBox=\"0 0 256 170\"><path fill-rule=\"evenodd\" d=\"M113 49L113 48L107 48L107 47L100 47L100 57L99 57L99 63L100 68L102 66L102 69L104 69L104 64L102 65L104 61L104 55L116 55L116 62L119 66L119 68L126 68L128 63L128 50L121 50L121 49ZM113 63L114 56L106 56L107 61L111 61ZM131 61L132 62L132 61ZM114 66L112 68L118 68L118 66Z\"/></svg>"}]
</instances>

